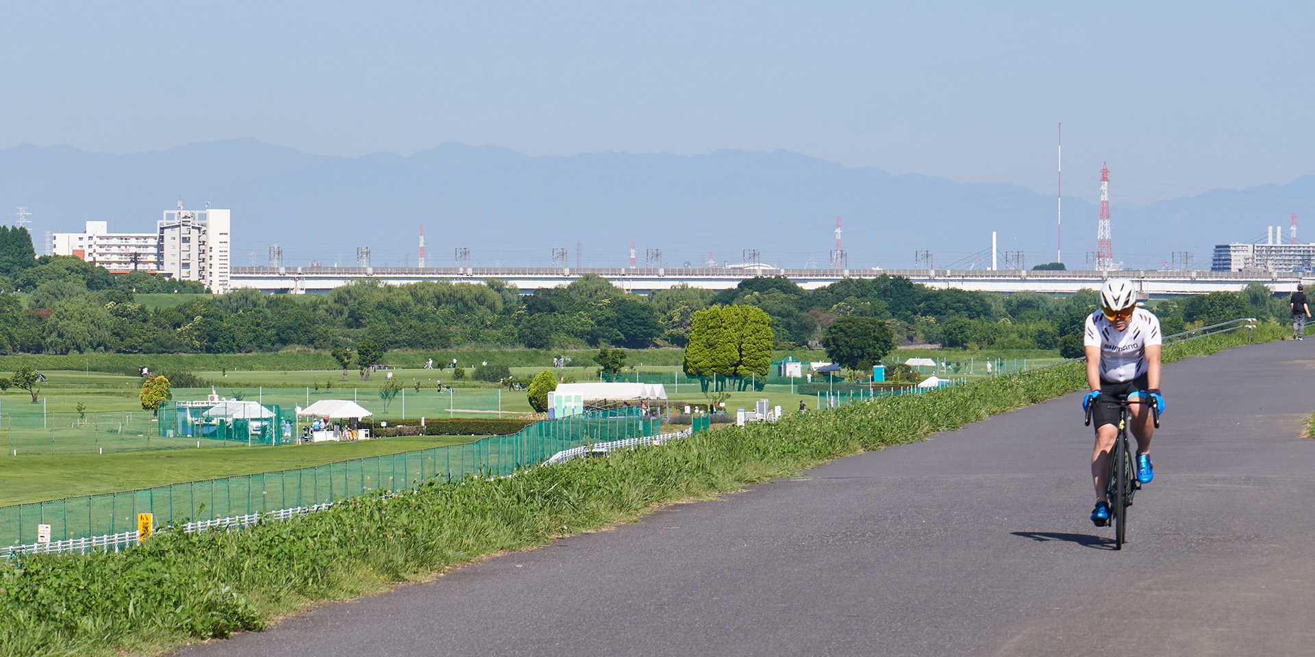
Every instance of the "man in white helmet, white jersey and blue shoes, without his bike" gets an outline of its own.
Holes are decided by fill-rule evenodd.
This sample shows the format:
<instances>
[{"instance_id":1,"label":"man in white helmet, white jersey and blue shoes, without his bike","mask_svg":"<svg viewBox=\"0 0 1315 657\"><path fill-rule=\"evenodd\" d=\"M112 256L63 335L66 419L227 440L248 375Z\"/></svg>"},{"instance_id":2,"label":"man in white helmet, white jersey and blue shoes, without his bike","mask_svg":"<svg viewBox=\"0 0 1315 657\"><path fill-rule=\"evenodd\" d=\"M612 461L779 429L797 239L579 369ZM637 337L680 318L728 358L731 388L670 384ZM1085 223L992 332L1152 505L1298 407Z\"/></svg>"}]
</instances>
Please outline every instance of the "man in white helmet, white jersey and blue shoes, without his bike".
<instances>
[{"instance_id":1,"label":"man in white helmet, white jersey and blue shoes, without his bike","mask_svg":"<svg viewBox=\"0 0 1315 657\"><path fill-rule=\"evenodd\" d=\"M1106 487L1110 478L1110 453L1118 436L1119 403L1116 396L1147 399L1164 411L1160 396L1160 319L1137 307L1136 290L1127 279L1110 279L1101 286L1101 310L1086 318L1086 382L1091 392L1082 398L1082 409L1091 409L1095 420L1095 449L1091 452L1091 480L1095 484L1095 509L1091 522L1105 527L1110 520ZM1132 435L1137 439L1137 481L1149 484L1155 477L1151 465L1149 409L1130 407Z\"/></svg>"}]
</instances>

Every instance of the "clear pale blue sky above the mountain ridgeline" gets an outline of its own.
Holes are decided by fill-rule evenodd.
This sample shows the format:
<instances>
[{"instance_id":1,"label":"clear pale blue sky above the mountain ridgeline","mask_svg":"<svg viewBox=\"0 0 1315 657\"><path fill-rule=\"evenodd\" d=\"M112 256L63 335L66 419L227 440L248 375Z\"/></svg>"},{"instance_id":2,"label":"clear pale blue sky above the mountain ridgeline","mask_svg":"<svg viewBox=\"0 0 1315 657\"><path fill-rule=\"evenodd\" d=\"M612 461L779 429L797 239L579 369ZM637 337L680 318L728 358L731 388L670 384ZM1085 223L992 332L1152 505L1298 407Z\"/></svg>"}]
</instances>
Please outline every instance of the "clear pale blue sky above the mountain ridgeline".
<instances>
[{"instance_id":1,"label":"clear pale blue sky above the mountain ridgeline","mask_svg":"<svg viewBox=\"0 0 1315 657\"><path fill-rule=\"evenodd\" d=\"M1315 173L1308 3L22 3L0 147L776 150L1144 204Z\"/></svg>"}]
</instances>

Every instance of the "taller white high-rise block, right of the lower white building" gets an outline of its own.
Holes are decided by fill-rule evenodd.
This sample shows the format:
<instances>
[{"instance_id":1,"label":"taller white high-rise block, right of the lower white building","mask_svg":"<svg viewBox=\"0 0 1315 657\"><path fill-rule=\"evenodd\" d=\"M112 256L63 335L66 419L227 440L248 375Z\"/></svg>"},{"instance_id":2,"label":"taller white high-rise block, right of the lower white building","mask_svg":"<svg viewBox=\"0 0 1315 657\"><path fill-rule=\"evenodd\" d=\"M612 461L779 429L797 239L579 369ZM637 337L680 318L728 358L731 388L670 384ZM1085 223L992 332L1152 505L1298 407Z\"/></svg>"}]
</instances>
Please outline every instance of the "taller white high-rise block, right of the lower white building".
<instances>
[{"instance_id":1,"label":"taller white high-rise block, right of the lower white building","mask_svg":"<svg viewBox=\"0 0 1315 657\"><path fill-rule=\"evenodd\" d=\"M201 281L210 292L229 290L231 239L229 210L164 210L156 225L160 271L185 281Z\"/></svg>"}]
</instances>

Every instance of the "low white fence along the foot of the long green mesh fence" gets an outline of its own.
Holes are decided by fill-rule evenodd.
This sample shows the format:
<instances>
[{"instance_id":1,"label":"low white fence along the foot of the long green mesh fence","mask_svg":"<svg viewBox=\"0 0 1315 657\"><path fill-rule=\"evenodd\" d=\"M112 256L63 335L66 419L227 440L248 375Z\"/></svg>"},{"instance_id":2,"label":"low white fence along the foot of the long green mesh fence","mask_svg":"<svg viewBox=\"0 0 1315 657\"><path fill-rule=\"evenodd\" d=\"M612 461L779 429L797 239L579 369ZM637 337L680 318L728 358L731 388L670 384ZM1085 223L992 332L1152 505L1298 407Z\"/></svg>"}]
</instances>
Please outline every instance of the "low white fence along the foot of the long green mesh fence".
<instances>
[{"instance_id":1,"label":"low white fence along the foot of the long green mesh fence","mask_svg":"<svg viewBox=\"0 0 1315 657\"><path fill-rule=\"evenodd\" d=\"M543 463L543 465L552 465L580 456L605 456L609 452L617 449L633 449L639 445L660 445L668 440L675 440L689 435L690 430L677 431L672 434L660 434L656 436L644 438L630 438L626 440L613 440L610 443L594 443L589 445L576 447L572 449L564 449L552 455L551 459ZM404 494L405 491L393 493L393 495ZM187 533L196 533L209 530L224 530L224 531L237 531L258 524L262 522L271 520L287 520L289 518L296 518L299 515L313 514L317 511L323 511L333 506L333 502L326 502L322 505L312 506L297 506L292 509L280 509L277 511L267 511L263 514L246 514L234 515L229 518L216 518L213 520L196 520L184 523L178 527L166 527L160 532L183 530ZM141 535L137 530L130 532L120 533L107 533L103 536L88 536L83 539L67 539L67 540L53 540L50 543L32 543L28 545L11 545L8 548L0 548L0 558L9 557L13 555L51 555L51 553L79 553L85 555L87 552L120 552L132 548L141 543Z\"/></svg>"}]
</instances>

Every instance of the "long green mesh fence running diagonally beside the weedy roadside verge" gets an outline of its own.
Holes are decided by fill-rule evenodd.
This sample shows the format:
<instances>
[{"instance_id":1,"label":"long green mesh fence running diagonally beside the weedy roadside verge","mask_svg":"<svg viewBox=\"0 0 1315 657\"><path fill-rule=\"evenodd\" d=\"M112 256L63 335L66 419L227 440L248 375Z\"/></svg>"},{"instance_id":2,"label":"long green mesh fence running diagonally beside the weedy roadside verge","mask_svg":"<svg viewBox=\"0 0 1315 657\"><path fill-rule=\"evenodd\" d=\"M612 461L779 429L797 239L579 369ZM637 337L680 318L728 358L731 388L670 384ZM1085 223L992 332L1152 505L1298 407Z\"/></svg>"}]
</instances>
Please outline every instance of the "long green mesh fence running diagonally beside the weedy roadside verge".
<instances>
[{"instance_id":1,"label":"long green mesh fence running diagonally beside the weedy roadside verge","mask_svg":"<svg viewBox=\"0 0 1315 657\"><path fill-rule=\"evenodd\" d=\"M53 540L66 540L133 531L139 512L154 514L154 523L164 526L310 506L373 490L412 489L431 480L510 474L563 449L650 436L658 430L658 422L643 418L639 409L622 409L535 422L514 435L463 445L5 506L0 507L0 545L36 543L38 524L50 526Z\"/></svg>"}]
</instances>

